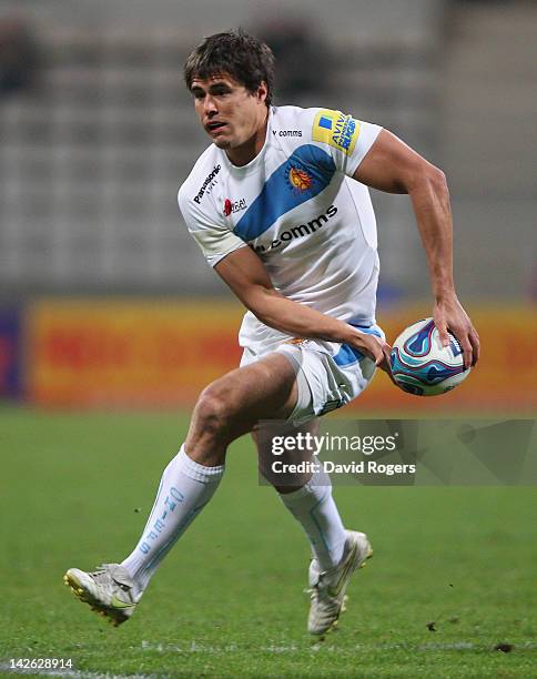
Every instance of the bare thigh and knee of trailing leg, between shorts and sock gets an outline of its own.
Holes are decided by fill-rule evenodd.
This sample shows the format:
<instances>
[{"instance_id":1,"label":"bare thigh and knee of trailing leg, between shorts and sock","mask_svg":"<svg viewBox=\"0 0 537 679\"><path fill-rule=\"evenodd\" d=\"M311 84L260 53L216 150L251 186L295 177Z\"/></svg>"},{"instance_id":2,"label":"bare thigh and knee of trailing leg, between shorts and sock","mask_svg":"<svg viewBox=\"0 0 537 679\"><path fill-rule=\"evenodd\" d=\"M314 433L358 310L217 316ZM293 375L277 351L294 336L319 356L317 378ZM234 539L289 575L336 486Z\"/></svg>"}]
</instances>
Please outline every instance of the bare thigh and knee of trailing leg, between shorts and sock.
<instances>
[{"instance_id":1,"label":"bare thigh and knee of trailing leg, between shorts and sock","mask_svg":"<svg viewBox=\"0 0 537 679\"><path fill-rule=\"evenodd\" d=\"M281 491L301 488L312 476L307 464L293 473L282 473L280 469L282 465L301 465L315 460L313 436L318 434L318 429L317 418L302 425L284 420L257 423L252 430L252 438L257 448L260 474ZM276 470L273 467L275 462L281 463Z\"/></svg>"}]
</instances>

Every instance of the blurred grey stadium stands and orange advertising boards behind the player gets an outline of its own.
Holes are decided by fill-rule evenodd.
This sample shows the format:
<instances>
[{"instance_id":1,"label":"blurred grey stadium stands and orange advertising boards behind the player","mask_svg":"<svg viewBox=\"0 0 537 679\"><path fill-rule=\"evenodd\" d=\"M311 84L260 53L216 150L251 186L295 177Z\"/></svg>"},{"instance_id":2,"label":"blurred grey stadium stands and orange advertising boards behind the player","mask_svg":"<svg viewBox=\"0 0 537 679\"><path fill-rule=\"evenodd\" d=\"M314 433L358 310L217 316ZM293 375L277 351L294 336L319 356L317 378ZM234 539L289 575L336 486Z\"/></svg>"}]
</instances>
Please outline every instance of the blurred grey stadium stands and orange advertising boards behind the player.
<instances>
[{"instance_id":1,"label":"blurred grey stadium stands and orange advertising boards behind the player","mask_svg":"<svg viewBox=\"0 0 537 679\"><path fill-rule=\"evenodd\" d=\"M523 1L0 0L0 399L189 406L236 364L242 311L175 195L207 144L182 63L237 24L274 48L276 103L379 123L448 176L483 361L440 399L378 377L355 407L534 413L537 6ZM429 315L428 278L409 201L373 201L393 340Z\"/></svg>"}]
</instances>

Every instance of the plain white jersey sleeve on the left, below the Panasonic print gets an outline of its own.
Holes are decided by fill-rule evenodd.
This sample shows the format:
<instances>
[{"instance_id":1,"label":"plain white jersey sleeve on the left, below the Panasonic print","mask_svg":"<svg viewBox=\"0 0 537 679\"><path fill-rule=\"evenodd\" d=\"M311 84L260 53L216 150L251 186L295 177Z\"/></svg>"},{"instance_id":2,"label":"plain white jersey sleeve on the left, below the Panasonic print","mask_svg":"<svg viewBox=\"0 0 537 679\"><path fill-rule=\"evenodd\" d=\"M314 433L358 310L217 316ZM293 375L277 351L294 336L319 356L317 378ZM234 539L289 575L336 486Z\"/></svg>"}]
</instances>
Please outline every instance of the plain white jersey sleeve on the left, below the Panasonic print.
<instances>
[{"instance_id":1,"label":"plain white jersey sleeve on the left, below the Panasonic print","mask_svg":"<svg viewBox=\"0 0 537 679\"><path fill-rule=\"evenodd\" d=\"M225 224L211 219L191 199L182 195L181 190L178 203L190 234L211 266L216 266L226 255L246 245Z\"/></svg>"}]
</instances>

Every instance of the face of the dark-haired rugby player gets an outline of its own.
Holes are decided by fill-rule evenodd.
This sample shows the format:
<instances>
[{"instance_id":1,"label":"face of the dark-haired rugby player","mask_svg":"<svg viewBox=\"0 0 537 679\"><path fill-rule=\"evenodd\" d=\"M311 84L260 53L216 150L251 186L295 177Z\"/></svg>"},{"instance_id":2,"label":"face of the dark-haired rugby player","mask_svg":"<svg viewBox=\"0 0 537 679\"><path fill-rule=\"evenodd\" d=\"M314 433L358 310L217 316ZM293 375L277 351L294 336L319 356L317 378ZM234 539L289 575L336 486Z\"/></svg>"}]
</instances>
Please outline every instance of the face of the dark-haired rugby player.
<instances>
[{"instance_id":1,"label":"face of the dark-haired rugby player","mask_svg":"<svg viewBox=\"0 0 537 679\"><path fill-rule=\"evenodd\" d=\"M194 78L191 91L200 122L219 149L237 149L264 129L264 83L252 94L229 73L216 73L206 80Z\"/></svg>"}]
</instances>

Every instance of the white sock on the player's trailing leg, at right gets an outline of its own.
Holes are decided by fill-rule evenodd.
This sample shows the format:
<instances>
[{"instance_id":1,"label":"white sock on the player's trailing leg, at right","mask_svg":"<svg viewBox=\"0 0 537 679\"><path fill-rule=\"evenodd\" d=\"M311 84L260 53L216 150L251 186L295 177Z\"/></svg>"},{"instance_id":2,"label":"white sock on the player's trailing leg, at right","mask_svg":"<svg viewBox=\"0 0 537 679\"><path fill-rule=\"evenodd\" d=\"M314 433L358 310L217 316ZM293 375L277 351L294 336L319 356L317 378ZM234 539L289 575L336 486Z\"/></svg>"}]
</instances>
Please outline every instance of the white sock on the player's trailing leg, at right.
<instances>
[{"instance_id":1,"label":"white sock on the player's trailing leg, at right","mask_svg":"<svg viewBox=\"0 0 537 679\"><path fill-rule=\"evenodd\" d=\"M330 476L324 472L315 472L298 490L278 495L304 528L321 570L337 566L347 535L332 497Z\"/></svg>"}]
</instances>

